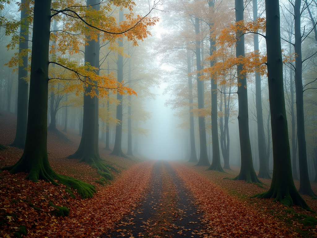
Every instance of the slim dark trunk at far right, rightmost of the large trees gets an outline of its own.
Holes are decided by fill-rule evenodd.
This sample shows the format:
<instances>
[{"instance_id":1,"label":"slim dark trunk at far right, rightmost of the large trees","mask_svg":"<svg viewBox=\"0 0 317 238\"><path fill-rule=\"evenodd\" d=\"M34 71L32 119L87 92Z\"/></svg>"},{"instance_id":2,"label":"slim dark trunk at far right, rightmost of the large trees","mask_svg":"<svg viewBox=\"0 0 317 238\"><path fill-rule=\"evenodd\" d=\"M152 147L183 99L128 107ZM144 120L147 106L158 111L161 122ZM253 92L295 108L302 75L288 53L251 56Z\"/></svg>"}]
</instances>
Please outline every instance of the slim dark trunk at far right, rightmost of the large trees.
<instances>
[{"instance_id":1,"label":"slim dark trunk at far right, rightmost of the large trees","mask_svg":"<svg viewBox=\"0 0 317 238\"><path fill-rule=\"evenodd\" d=\"M300 174L299 192L311 197L317 197L314 194L308 175L307 150L305 138L305 119L304 119L304 100L303 100L303 82L302 82L302 56L301 56L301 0L295 0L294 5L294 30L295 30L295 92L296 92L296 120L297 120L297 142L298 142L298 161Z\"/></svg>"}]
</instances>

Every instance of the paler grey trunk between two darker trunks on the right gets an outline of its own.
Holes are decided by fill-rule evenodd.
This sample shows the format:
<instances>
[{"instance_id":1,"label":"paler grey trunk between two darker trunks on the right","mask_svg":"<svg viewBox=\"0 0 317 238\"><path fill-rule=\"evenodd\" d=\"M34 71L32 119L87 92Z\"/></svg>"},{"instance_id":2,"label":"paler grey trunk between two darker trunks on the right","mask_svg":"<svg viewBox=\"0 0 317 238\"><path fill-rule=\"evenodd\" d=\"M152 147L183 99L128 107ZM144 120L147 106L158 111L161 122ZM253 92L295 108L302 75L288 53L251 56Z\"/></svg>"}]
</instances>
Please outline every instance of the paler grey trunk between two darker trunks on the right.
<instances>
[{"instance_id":1,"label":"paler grey trunk between two darker trunks on the right","mask_svg":"<svg viewBox=\"0 0 317 238\"><path fill-rule=\"evenodd\" d=\"M258 18L257 15L257 0L253 0L253 21L255 22ZM259 35L253 34L254 52L259 52ZM259 178L271 178L267 163L266 163L266 148L265 148L265 134L264 134L264 123L262 113L262 89L261 89L261 75L256 72L256 120L257 120L257 134L258 134L258 150L259 150Z\"/></svg>"}]
</instances>

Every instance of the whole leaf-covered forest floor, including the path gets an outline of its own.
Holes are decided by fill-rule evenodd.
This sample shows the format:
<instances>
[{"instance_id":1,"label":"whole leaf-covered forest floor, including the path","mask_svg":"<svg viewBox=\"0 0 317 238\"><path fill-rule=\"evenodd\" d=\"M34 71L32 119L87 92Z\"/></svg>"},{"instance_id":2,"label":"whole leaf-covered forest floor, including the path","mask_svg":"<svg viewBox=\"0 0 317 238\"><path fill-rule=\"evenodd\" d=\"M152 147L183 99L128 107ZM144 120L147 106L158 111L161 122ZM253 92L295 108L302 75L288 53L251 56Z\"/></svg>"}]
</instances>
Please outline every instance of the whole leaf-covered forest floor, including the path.
<instances>
[{"instance_id":1,"label":"whole leaf-covered forest floor, including the path","mask_svg":"<svg viewBox=\"0 0 317 238\"><path fill-rule=\"evenodd\" d=\"M16 115L0 112L0 143L15 136ZM58 128L62 129L62 128ZM131 160L110 155L100 142L100 155L121 173L102 185L100 175L85 163L65 159L77 149L80 136L68 129L71 142L48 132L48 156L60 174L94 184L93 198L81 197L65 186L33 183L25 173L0 172L0 237L317 237L317 214L297 206L285 207L271 199L249 198L268 190L235 177L239 168L226 173L206 171L192 163ZM0 151L0 167L15 163L22 149ZM295 181L298 188L299 182ZM317 184L311 183L315 193ZM303 196L317 211L317 200ZM66 206L68 217L54 215ZM315 219L314 219L315 218Z\"/></svg>"}]
</instances>

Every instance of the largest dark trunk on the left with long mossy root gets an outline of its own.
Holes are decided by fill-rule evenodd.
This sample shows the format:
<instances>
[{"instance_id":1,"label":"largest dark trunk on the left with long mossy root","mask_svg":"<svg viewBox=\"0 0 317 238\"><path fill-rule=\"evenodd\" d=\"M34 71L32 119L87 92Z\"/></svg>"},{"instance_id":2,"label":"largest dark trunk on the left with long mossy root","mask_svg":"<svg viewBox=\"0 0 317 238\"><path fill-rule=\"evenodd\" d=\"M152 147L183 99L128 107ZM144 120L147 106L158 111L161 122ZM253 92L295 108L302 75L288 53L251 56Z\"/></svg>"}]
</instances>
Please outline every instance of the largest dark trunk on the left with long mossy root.
<instances>
[{"instance_id":1,"label":"largest dark trunk on the left with long mossy root","mask_svg":"<svg viewBox=\"0 0 317 238\"><path fill-rule=\"evenodd\" d=\"M51 1L35 0L32 61L30 73L30 96L28 126L25 148L16 164L4 167L10 173L27 172L26 179L38 182L42 179L58 185L55 180L77 189L83 197L92 197L96 191L91 184L58 175L49 165L47 156L47 111L49 83L49 36Z\"/></svg>"}]
</instances>

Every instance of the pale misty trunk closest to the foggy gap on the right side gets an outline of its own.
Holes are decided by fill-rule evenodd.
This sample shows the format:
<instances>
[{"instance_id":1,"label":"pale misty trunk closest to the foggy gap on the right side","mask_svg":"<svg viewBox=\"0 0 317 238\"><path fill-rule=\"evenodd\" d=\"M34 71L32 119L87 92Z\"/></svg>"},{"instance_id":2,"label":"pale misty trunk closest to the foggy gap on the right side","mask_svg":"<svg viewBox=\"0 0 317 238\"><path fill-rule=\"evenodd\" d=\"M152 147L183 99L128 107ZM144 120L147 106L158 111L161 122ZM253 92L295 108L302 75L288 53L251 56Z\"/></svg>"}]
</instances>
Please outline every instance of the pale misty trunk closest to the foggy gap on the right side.
<instances>
[{"instance_id":1,"label":"pale misty trunk closest to the foggy gap on the right side","mask_svg":"<svg viewBox=\"0 0 317 238\"><path fill-rule=\"evenodd\" d=\"M190 126L190 143L191 155L188 162L197 163L196 145L195 145L195 128L194 128L194 112L193 112L193 83L191 76L191 52L186 50L187 54L187 78L188 78L188 97L189 97L189 126Z\"/></svg>"}]
</instances>

